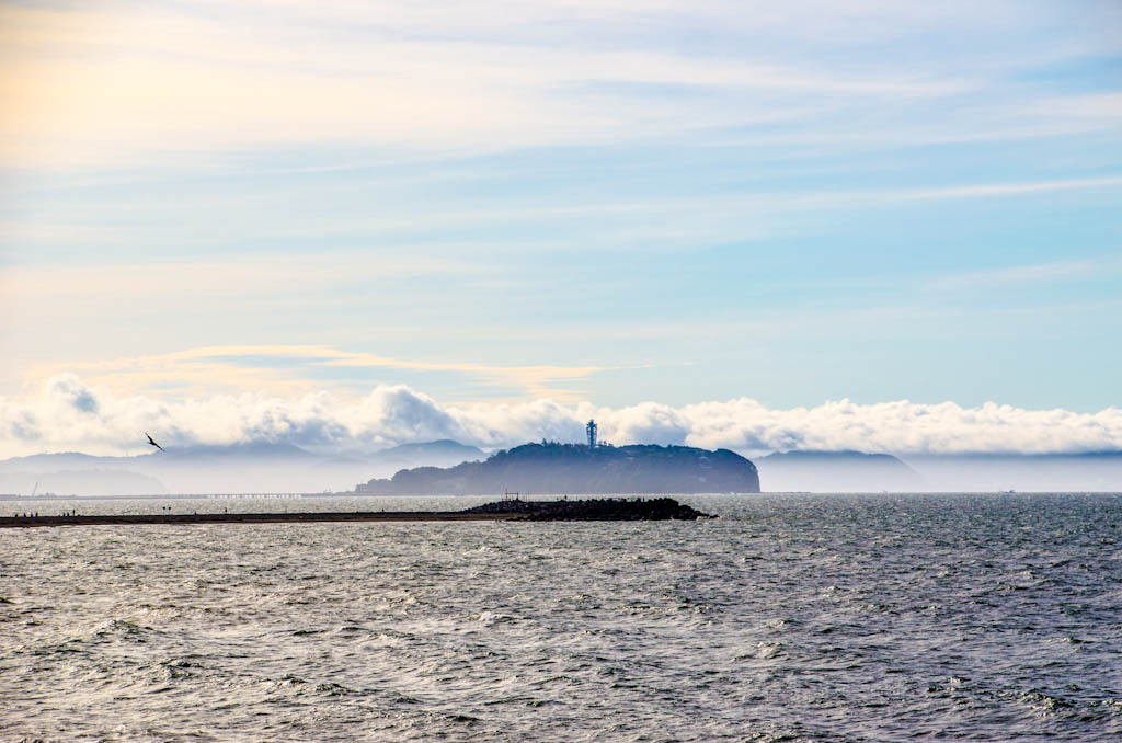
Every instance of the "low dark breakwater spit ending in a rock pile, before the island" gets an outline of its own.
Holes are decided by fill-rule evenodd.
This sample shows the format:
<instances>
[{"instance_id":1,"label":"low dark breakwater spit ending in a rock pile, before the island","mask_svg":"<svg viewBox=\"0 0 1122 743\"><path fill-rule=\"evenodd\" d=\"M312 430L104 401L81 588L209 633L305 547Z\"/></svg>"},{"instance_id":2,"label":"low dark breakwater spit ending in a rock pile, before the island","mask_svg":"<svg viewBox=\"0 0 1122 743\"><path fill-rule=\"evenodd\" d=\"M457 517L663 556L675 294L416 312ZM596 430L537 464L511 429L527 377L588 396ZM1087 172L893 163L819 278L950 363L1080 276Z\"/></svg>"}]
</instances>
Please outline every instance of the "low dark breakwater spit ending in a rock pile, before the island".
<instances>
[{"instance_id":1,"label":"low dark breakwater spit ending in a rock pile, before the island","mask_svg":"<svg viewBox=\"0 0 1122 743\"><path fill-rule=\"evenodd\" d=\"M465 511L355 511L289 513L194 513L26 515L0 517L0 528L95 526L130 524L292 524L312 522L414 521L692 521L709 514L673 498L588 498L522 501L507 498Z\"/></svg>"}]
</instances>

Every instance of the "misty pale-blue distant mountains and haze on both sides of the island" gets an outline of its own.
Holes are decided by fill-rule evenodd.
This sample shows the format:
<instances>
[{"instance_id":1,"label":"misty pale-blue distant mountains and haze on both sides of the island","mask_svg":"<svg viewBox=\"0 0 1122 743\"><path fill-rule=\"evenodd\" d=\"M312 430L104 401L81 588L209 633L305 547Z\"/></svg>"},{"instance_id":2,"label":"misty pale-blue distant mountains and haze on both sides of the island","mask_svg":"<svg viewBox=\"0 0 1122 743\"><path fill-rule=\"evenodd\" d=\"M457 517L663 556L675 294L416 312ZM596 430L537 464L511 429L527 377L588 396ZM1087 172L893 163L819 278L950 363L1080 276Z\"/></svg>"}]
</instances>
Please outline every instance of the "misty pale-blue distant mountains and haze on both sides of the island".
<instances>
[{"instance_id":1,"label":"misty pale-blue distant mountains and haze on both sides of the island","mask_svg":"<svg viewBox=\"0 0 1122 743\"><path fill-rule=\"evenodd\" d=\"M429 468L432 475L433 467L488 459L495 451L498 448L485 451L456 442L450 446L445 440L374 451L309 450L292 443L257 441L224 447L168 444L166 452L125 457L38 455L0 459L0 494L37 492L105 497L165 493L339 493L405 469ZM738 453L755 464L760 486L770 493L1122 492L1122 451L893 456L803 449L787 453L744 450ZM543 470L535 487L558 487L559 493L572 489L553 479L553 475ZM645 492L642 485L632 487ZM503 489L498 487L495 494Z\"/></svg>"}]
</instances>

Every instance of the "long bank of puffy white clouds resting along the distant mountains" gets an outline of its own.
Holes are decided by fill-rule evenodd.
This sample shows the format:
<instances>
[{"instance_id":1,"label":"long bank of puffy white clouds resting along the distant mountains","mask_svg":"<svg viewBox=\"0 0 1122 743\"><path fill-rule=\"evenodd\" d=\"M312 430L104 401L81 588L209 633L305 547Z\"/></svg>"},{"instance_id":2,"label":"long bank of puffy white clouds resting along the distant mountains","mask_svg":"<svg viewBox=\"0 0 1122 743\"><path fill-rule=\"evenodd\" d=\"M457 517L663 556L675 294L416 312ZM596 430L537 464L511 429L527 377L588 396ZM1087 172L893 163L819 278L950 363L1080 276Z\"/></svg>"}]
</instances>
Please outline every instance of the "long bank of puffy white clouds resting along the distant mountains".
<instances>
[{"instance_id":1,"label":"long bank of puffy white clouds resting along the distant mountains","mask_svg":"<svg viewBox=\"0 0 1122 743\"><path fill-rule=\"evenodd\" d=\"M445 406L403 385L358 401L327 392L298 397L213 395L168 402L119 396L73 374L26 397L0 397L0 456L44 451L139 453L144 432L168 446L286 442L312 450L373 450L457 439L484 448L551 439L581 441L596 418L616 444L684 443L745 452L839 450L895 453L1077 452L1122 449L1122 410L1032 411L986 403L962 407L898 401L827 402L778 410L741 397L682 407L563 404L552 400Z\"/></svg>"}]
</instances>

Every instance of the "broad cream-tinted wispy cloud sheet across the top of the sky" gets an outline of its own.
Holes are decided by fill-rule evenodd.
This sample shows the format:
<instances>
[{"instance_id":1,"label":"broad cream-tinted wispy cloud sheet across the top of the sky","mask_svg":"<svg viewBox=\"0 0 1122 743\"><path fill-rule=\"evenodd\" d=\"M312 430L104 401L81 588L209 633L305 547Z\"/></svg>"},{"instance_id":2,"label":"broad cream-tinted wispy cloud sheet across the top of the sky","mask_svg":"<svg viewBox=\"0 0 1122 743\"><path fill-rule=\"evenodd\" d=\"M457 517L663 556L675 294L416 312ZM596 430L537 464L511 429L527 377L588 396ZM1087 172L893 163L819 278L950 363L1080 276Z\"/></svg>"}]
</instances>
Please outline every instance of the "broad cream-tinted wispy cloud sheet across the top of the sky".
<instances>
[{"instance_id":1,"label":"broad cream-tinted wispy cloud sheet across the top of the sky","mask_svg":"<svg viewBox=\"0 0 1122 743\"><path fill-rule=\"evenodd\" d=\"M1003 3L973 10L982 33L1024 15ZM470 12L456 3L330 2L315 13L276 2L7 6L0 91L15 114L0 123L0 156L10 165L157 156L185 164L206 152L316 141L478 153L784 119L820 136L874 139L916 130L926 109L870 130L853 100L923 106L985 90L1001 72L981 54L973 67L930 58L885 67L854 52L960 27L959 13L881 3L783 12L763 2L595 11L494 2ZM604 85L661 92L637 104L604 95ZM682 89L709 98L699 106L675 94ZM1110 116L1096 106L1047 110L1032 119L1052 128L1072 118L1102 126Z\"/></svg>"}]
</instances>

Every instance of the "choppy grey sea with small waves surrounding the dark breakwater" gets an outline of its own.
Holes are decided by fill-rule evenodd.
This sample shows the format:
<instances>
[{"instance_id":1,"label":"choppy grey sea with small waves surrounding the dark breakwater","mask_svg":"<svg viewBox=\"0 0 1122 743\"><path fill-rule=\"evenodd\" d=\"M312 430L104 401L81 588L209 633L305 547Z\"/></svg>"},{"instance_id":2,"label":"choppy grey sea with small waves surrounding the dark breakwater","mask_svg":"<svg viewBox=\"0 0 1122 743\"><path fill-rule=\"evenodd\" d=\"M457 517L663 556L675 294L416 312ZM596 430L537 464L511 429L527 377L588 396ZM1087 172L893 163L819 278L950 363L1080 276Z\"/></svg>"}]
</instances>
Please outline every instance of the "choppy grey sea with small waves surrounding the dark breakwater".
<instances>
[{"instance_id":1,"label":"choppy grey sea with small waves surrounding the dark breakwater","mask_svg":"<svg viewBox=\"0 0 1122 743\"><path fill-rule=\"evenodd\" d=\"M1122 735L1122 495L680 499L721 519L3 530L0 740Z\"/></svg>"}]
</instances>

